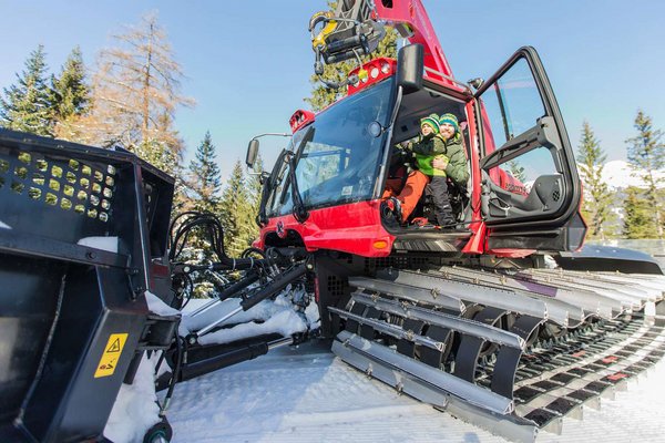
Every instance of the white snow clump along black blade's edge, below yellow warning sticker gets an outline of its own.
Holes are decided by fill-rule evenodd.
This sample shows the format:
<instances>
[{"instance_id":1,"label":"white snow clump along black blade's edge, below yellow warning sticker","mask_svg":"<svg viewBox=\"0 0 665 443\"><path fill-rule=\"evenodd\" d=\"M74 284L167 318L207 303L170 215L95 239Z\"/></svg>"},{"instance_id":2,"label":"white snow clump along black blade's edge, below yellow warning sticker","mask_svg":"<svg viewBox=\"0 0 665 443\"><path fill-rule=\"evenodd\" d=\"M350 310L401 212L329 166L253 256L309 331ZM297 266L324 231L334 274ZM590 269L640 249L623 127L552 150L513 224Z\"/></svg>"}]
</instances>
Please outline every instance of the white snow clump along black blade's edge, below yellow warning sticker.
<instances>
[{"instance_id":1,"label":"white snow clump along black blade's edge, below yellow warning sticker","mask_svg":"<svg viewBox=\"0 0 665 443\"><path fill-rule=\"evenodd\" d=\"M104 427L104 436L114 443L141 442L145 432L160 421L155 394L155 368L143 357L134 382L122 384Z\"/></svg>"}]
</instances>

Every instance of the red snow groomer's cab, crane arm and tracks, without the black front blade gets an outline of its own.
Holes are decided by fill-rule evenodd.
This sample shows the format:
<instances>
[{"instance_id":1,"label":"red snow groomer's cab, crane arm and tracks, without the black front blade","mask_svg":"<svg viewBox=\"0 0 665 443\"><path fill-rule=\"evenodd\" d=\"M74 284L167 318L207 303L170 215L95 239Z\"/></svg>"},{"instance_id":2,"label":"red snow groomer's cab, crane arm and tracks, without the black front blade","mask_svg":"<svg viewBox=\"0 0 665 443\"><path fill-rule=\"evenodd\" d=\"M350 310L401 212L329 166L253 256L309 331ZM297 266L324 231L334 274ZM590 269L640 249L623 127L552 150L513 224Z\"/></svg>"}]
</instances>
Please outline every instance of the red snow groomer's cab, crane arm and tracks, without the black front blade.
<instances>
[{"instance_id":1,"label":"red snow groomer's cab, crane arm and tracks, without the black front blade","mask_svg":"<svg viewBox=\"0 0 665 443\"><path fill-rule=\"evenodd\" d=\"M386 24L409 44L397 60L362 63ZM340 1L310 30L316 73L349 59L358 66L323 80L346 97L290 119L255 246L307 251L321 334L339 358L532 441L663 357L661 268L635 251L581 249L575 158L533 48L462 83L419 0ZM432 114L458 122L467 169L462 182L448 174L446 226L439 190L413 178L420 163L400 148ZM253 141L248 166L257 151Z\"/></svg>"}]
</instances>

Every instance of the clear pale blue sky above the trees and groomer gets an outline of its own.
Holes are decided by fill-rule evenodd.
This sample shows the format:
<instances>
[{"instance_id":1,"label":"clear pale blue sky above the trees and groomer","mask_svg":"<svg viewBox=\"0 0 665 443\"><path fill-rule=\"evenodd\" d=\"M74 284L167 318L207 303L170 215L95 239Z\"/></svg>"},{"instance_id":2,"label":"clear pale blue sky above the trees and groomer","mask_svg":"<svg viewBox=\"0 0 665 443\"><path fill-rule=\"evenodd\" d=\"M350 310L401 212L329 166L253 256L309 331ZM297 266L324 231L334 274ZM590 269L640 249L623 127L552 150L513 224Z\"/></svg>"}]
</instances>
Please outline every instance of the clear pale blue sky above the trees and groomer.
<instances>
[{"instance_id":1,"label":"clear pale blue sky above the trees and groomer","mask_svg":"<svg viewBox=\"0 0 665 443\"><path fill-rule=\"evenodd\" d=\"M423 3L459 80L488 78L521 45L535 47L575 148L587 120L608 159L625 158L638 107L665 130L665 2ZM197 102L176 117L187 158L209 130L226 175L253 135L288 132L291 113L307 107L314 61L307 23L323 9L325 0L0 0L0 87L16 81L40 43L52 71L75 45L93 66L99 50L114 44L113 34L156 10L187 76L183 92ZM267 163L282 145L262 142Z\"/></svg>"}]
</instances>

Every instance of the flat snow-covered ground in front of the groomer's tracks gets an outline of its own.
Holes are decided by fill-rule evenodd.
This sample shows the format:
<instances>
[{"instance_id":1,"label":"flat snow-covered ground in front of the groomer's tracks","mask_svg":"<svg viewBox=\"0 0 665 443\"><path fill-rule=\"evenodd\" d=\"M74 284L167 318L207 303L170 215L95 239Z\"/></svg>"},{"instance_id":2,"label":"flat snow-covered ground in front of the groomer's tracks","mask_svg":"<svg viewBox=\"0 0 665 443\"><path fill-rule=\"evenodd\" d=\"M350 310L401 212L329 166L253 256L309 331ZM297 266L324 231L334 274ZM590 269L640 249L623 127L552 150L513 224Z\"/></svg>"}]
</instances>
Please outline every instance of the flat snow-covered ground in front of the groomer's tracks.
<instances>
[{"instance_id":1,"label":"flat snow-covered ground in front of the groomer's tracks","mask_svg":"<svg viewBox=\"0 0 665 443\"><path fill-rule=\"evenodd\" d=\"M176 385L173 442L504 442L350 368L326 343ZM665 442L665 362L539 442Z\"/></svg>"}]
</instances>

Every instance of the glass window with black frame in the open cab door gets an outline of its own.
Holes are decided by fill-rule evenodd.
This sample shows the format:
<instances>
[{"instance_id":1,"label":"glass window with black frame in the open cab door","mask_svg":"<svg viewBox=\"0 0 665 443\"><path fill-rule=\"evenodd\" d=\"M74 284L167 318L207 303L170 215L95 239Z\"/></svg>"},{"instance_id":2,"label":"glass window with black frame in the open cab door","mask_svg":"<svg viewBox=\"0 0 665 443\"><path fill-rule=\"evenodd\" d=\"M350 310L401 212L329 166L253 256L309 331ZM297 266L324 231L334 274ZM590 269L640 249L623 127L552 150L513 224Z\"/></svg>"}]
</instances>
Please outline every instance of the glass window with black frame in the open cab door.
<instances>
[{"instance_id":1,"label":"glass window with black frame in the open cab door","mask_svg":"<svg viewBox=\"0 0 665 443\"><path fill-rule=\"evenodd\" d=\"M485 222L567 218L579 199L574 155L535 51L518 51L475 97Z\"/></svg>"}]
</instances>

